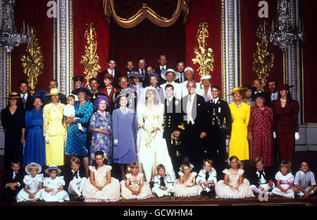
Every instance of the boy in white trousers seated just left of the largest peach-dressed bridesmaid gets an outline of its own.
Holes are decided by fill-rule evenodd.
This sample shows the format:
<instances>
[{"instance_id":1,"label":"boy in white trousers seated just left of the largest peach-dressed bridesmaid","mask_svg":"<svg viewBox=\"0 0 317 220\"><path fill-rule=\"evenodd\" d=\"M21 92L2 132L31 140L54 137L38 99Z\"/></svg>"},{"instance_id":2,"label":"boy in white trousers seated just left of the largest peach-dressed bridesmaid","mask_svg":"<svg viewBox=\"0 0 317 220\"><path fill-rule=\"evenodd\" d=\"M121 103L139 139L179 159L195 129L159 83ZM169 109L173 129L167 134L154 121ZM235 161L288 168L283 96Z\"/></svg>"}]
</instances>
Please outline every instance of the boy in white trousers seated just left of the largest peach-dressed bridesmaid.
<instances>
[{"instance_id":1,"label":"boy in white trousers seated just left of the largest peach-dressed bridesmaid","mask_svg":"<svg viewBox=\"0 0 317 220\"><path fill-rule=\"evenodd\" d=\"M80 159L78 157L70 159L70 169L65 175L65 186L68 194L73 195L76 201L84 201L82 189L86 181L85 173L80 172Z\"/></svg>"}]
</instances>

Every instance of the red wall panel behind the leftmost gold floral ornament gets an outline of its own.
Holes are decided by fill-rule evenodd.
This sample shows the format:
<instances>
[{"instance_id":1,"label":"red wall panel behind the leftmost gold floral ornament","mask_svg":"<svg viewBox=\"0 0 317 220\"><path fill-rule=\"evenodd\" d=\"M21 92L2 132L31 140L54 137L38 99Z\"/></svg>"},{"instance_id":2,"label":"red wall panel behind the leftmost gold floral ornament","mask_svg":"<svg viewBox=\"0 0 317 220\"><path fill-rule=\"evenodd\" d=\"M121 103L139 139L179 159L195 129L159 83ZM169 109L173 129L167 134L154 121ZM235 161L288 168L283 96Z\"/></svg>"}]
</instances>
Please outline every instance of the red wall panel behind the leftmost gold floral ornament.
<instances>
[{"instance_id":1,"label":"red wall panel behind the leftmost gold floral ornament","mask_svg":"<svg viewBox=\"0 0 317 220\"><path fill-rule=\"evenodd\" d=\"M15 26L18 32L23 28L23 20L25 20L25 29L27 23L35 25L39 47L44 56L44 71L38 77L35 92L46 90L49 79L54 77L54 20L46 15L48 10L46 3L43 0L20 0L15 1L14 8ZM18 82L27 80L20 60L22 54L27 54L26 46L27 44L21 44L11 53L11 91L18 91Z\"/></svg>"}]
</instances>

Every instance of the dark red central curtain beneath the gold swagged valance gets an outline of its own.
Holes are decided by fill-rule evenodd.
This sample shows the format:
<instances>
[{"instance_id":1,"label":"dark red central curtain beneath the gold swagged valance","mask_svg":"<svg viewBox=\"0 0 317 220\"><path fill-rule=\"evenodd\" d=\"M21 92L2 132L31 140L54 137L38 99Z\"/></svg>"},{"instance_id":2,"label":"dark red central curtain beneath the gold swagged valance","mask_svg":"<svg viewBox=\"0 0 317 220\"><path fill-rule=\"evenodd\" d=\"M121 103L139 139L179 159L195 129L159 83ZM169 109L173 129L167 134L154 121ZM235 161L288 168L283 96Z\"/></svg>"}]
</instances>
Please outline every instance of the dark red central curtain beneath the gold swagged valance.
<instances>
[{"instance_id":1,"label":"dark red central curtain beneath the gold swagged valance","mask_svg":"<svg viewBox=\"0 0 317 220\"><path fill-rule=\"evenodd\" d=\"M175 68L178 59L185 59L185 28L182 18L170 27L159 27L144 19L132 28L120 27L113 18L110 25L109 55L117 59L117 69L125 73L125 63L144 57L147 64L159 66L159 54L166 54L168 66Z\"/></svg>"}]
</instances>

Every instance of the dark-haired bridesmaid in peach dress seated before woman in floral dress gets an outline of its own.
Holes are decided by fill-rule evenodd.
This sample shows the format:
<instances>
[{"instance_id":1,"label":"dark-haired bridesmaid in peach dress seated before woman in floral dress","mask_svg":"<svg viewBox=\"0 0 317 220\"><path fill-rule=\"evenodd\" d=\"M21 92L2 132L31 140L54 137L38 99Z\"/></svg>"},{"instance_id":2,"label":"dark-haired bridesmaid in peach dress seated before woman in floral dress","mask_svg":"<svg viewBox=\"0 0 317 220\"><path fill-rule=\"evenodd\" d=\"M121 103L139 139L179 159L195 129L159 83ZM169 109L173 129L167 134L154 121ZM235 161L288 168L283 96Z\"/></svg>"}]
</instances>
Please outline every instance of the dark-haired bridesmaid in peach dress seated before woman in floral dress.
<instances>
[{"instance_id":1,"label":"dark-haired bridesmaid in peach dress seated before woman in floral dress","mask_svg":"<svg viewBox=\"0 0 317 220\"><path fill-rule=\"evenodd\" d=\"M82 195L85 202L114 202L120 199L120 183L111 177L111 166L106 165L105 152L96 152L90 177L87 179Z\"/></svg>"}]
</instances>

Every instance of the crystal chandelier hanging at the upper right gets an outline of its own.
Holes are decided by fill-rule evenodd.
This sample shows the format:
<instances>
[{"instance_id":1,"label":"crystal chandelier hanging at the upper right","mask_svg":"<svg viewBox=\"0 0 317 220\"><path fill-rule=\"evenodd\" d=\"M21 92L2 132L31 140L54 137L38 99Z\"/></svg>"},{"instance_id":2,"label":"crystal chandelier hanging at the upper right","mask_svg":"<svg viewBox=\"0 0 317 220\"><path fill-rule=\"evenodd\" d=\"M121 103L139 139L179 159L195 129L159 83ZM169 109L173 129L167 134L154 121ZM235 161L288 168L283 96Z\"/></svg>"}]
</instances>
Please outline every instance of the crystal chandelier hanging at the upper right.
<instances>
[{"instance_id":1,"label":"crystal chandelier hanging at the upper right","mask_svg":"<svg viewBox=\"0 0 317 220\"><path fill-rule=\"evenodd\" d=\"M274 27L274 21L272 20L271 31L264 31L262 35L263 41L266 41L268 35L270 36L270 42L274 45L280 46L280 49L284 52L287 51L288 45L294 44L299 39L304 39L304 28L301 30L301 22L297 26L292 26L290 20L290 2L288 0L278 0L278 16L277 24Z\"/></svg>"}]
</instances>

